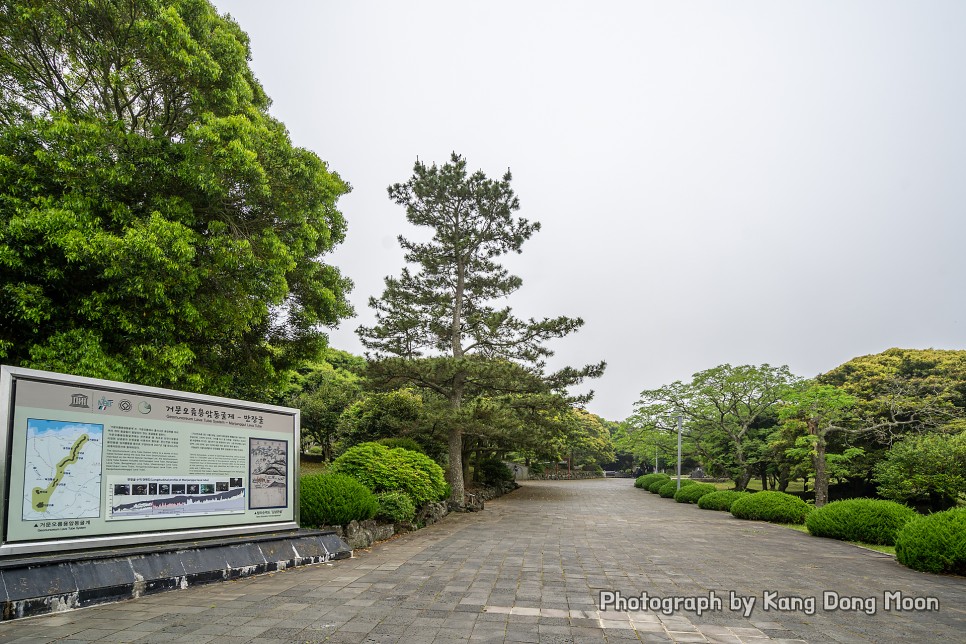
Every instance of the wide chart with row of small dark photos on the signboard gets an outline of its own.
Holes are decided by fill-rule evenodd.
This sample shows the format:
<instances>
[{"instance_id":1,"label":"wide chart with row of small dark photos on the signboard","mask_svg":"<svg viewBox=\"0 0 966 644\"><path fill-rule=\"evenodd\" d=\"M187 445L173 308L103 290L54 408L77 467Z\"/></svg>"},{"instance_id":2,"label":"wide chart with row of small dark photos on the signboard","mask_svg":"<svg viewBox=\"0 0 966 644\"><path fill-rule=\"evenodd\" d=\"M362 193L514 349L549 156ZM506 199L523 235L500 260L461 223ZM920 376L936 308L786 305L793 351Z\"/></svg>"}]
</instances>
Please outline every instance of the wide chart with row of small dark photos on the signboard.
<instances>
[{"instance_id":1,"label":"wide chart with row of small dark photos on the signboard","mask_svg":"<svg viewBox=\"0 0 966 644\"><path fill-rule=\"evenodd\" d=\"M245 488L228 489L227 477L201 477L190 483L177 484L171 480L109 475L108 489L113 494L108 499L110 512L107 519L163 519L245 511ZM184 477L177 480L183 481Z\"/></svg>"}]
</instances>

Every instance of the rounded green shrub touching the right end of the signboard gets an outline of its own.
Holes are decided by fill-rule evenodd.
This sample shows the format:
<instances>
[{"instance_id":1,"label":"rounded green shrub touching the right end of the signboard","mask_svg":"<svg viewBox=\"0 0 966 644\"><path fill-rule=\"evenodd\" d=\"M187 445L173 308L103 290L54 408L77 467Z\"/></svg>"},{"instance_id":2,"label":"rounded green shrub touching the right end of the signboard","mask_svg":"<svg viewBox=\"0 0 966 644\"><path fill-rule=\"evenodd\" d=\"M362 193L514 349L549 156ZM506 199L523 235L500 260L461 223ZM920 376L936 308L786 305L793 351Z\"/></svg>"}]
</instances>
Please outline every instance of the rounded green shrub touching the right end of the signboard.
<instances>
[{"instance_id":1,"label":"rounded green shrub touching the right end of the signboard","mask_svg":"<svg viewBox=\"0 0 966 644\"><path fill-rule=\"evenodd\" d=\"M300 523L317 528L376 516L379 501L365 485L345 474L309 474L299 479Z\"/></svg>"}]
</instances>

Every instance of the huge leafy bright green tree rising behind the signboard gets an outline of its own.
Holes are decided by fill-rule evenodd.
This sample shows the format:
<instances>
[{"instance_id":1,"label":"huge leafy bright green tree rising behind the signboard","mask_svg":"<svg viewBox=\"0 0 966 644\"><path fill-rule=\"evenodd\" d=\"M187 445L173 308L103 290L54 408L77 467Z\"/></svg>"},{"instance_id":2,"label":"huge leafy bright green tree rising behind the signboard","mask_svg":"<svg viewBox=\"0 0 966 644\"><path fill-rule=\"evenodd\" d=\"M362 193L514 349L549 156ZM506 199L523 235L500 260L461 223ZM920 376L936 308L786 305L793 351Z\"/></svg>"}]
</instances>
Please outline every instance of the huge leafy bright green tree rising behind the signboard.
<instances>
[{"instance_id":1,"label":"huge leafy bright green tree rising behind the signboard","mask_svg":"<svg viewBox=\"0 0 966 644\"><path fill-rule=\"evenodd\" d=\"M0 5L0 359L277 399L351 314L348 185L205 0Z\"/></svg>"}]
</instances>

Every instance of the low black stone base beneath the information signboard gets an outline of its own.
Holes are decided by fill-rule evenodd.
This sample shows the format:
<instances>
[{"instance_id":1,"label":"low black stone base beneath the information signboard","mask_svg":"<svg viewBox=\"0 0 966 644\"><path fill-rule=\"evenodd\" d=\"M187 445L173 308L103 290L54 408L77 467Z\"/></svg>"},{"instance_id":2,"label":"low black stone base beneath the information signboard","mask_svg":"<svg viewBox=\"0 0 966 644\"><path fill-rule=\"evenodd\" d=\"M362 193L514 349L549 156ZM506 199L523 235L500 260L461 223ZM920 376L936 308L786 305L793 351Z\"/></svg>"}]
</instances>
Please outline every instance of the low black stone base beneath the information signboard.
<instances>
[{"instance_id":1,"label":"low black stone base beneath the information signboard","mask_svg":"<svg viewBox=\"0 0 966 644\"><path fill-rule=\"evenodd\" d=\"M299 530L0 560L0 620L239 579L352 556L334 532Z\"/></svg>"}]
</instances>

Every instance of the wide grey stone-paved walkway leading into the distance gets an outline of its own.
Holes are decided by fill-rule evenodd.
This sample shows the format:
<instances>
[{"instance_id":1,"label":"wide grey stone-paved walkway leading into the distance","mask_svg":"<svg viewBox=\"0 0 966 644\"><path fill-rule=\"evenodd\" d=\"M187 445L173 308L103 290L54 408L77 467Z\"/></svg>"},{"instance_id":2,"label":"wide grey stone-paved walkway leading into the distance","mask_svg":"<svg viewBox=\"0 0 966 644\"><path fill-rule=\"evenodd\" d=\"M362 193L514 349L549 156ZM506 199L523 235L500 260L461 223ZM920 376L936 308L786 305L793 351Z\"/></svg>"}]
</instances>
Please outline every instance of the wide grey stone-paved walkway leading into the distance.
<instances>
[{"instance_id":1,"label":"wide grey stone-paved walkway leading into the distance","mask_svg":"<svg viewBox=\"0 0 966 644\"><path fill-rule=\"evenodd\" d=\"M351 560L0 624L0 642L966 641L966 579L632 483L528 482ZM826 592L857 599L824 610Z\"/></svg>"}]
</instances>

